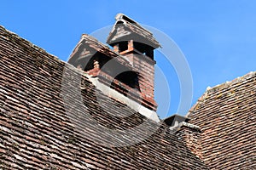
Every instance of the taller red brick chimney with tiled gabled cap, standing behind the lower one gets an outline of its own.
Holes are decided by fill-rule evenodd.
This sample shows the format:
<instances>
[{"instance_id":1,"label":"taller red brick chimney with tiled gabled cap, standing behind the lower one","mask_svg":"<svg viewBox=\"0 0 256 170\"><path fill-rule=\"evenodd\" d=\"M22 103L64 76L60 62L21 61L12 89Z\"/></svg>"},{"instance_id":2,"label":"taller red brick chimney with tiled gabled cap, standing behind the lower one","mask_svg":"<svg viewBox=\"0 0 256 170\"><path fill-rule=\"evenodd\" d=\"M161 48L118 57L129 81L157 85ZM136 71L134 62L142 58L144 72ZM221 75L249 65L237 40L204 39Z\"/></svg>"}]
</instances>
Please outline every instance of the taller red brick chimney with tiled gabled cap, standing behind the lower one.
<instances>
[{"instance_id":1,"label":"taller red brick chimney with tiled gabled cap, standing behind the lower one","mask_svg":"<svg viewBox=\"0 0 256 170\"><path fill-rule=\"evenodd\" d=\"M108 36L108 44L126 59L138 72L138 86L143 105L156 110L154 101L154 49L160 47L152 33L139 26L124 14L117 14L113 30Z\"/></svg>"}]
</instances>

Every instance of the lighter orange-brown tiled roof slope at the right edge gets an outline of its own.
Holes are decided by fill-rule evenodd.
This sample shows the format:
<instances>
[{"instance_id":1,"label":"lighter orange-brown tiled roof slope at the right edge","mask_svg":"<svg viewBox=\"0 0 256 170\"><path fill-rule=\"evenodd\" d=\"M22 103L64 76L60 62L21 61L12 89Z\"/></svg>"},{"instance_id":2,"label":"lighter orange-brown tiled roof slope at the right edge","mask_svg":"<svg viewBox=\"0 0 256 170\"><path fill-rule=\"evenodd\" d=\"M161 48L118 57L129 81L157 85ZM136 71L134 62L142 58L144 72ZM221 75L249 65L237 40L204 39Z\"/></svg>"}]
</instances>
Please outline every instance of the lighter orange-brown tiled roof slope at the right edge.
<instances>
[{"instance_id":1,"label":"lighter orange-brown tiled roof slope at the right edge","mask_svg":"<svg viewBox=\"0 0 256 170\"><path fill-rule=\"evenodd\" d=\"M256 169L256 72L210 88L189 112L210 169Z\"/></svg>"}]
</instances>

